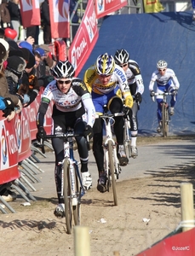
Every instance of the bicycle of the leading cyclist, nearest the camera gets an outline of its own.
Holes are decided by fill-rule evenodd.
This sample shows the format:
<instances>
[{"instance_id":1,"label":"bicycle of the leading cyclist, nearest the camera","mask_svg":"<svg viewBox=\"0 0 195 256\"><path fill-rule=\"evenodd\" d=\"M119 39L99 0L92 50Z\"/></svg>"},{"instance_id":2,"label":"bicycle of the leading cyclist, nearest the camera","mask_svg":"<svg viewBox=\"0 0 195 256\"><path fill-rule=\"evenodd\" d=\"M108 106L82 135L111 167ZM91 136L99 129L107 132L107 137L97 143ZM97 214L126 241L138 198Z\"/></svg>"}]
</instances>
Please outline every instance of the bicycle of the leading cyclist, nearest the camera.
<instances>
[{"instance_id":1,"label":"bicycle of the leading cyclist, nearest the camera","mask_svg":"<svg viewBox=\"0 0 195 256\"><path fill-rule=\"evenodd\" d=\"M47 135L46 139L61 138L64 140L64 160L58 164L62 166L61 172L61 195L65 201L65 218L67 233L72 233L72 215L74 224L81 224L81 197L85 194L79 163L73 154L73 137L83 135L75 134L72 129L58 135Z\"/></svg>"}]
</instances>

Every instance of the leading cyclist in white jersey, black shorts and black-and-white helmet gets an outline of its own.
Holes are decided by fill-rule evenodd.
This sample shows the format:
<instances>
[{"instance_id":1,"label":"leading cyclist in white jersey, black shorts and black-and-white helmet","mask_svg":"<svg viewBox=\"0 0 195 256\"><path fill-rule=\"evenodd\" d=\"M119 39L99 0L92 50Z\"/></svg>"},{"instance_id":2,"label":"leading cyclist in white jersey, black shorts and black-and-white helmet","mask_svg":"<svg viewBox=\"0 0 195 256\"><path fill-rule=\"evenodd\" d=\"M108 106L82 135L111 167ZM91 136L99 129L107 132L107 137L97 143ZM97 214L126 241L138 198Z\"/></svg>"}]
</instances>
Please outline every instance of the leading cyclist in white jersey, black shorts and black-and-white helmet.
<instances>
[{"instance_id":1,"label":"leading cyclist in white jersey, black shorts and black-and-white helmet","mask_svg":"<svg viewBox=\"0 0 195 256\"><path fill-rule=\"evenodd\" d=\"M74 68L69 61L59 61L52 69L54 80L45 88L37 113L37 139L44 139L46 132L43 128L44 115L49 107L53 106L53 134L66 132L67 127L74 129L76 133L83 133L84 137L76 137L78 154L81 161L81 175L83 186L90 189L92 178L88 171L89 151L85 137L93 136L95 122L95 107L91 95L81 79L74 78ZM86 117L86 113L87 117ZM87 122L83 120L83 114ZM64 198L61 197L61 166L58 163L64 159L64 142L60 138L52 139L55 154L54 177L59 205L54 210L56 217L63 217Z\"/></svg>"}]
</instances>

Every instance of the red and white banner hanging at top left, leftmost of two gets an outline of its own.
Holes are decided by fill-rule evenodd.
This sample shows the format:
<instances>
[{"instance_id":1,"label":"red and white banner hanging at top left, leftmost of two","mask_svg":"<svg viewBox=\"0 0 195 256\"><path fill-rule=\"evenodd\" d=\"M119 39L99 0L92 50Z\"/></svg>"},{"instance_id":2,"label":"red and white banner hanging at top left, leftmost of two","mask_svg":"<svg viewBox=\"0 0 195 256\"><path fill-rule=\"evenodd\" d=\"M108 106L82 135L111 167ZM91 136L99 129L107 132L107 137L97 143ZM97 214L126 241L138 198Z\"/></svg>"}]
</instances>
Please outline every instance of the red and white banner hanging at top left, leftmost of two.
<instances>
[{"instance_id":1,"label":"red and white banner hanging at top left, leftmost of two","mask_svg":"<svg viewBox=\"0 0 195 256\"><path fill-rule=\"evenodd\" d=\"M20 0L20 13L24 27L40 25L39 0Z\"/></svg>"}]
</instances>

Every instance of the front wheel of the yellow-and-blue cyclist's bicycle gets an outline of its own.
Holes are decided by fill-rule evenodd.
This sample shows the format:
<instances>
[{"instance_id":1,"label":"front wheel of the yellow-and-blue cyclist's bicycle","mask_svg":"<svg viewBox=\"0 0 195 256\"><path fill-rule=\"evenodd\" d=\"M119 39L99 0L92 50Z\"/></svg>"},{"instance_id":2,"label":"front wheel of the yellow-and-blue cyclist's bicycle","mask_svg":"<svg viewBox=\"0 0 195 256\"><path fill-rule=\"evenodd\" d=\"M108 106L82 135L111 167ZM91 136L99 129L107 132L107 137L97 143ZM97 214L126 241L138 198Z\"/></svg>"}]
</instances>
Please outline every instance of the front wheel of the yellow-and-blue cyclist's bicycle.
<instances>
[{"instance_id":1,"label":"front wheel of the yellow-and-blue cyclist's bicycle","mask_svg":"<svg viewBox=\"0 0 195 256\"><path fill-rule=\"evenodd\" d=\"M117 189L116 189L116 181L115 181L115 175L114 175L114 162L113 162L113 154L112 154L112 142L108 142L108 158L109 158L109 166L110 166L110 172L112 176L112 191L113 191L113 198L114 198L114 205L118 206L118 197L117 197Z\"/></svg>"}]
</instances>

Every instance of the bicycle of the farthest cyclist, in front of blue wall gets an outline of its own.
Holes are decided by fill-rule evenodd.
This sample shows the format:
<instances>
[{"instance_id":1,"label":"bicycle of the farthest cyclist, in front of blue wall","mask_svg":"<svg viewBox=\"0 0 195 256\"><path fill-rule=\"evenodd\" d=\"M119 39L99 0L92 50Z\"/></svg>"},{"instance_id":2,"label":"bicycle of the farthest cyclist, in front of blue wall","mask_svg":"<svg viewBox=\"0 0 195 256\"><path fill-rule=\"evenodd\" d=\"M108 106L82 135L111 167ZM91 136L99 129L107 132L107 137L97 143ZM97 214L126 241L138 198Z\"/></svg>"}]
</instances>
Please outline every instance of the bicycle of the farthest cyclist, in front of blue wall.
<instances>
[{"instance_id":1,"label":"bicycle of the farthest cyclist, in front of blue wall","mask_svg":"<svg viewBox=\"0 0 195 256\"><path fill-rule=\"evenodd\" d=\"M158 93L155 92L154 96L163 96L162 104L162 130L163 137L168 137L169 135L169 121L170 121L170 113L169 113L169 103L167 102L167 96L174 95L172 92L163 92ZM152 96L152 101L155 102L154 96Z\"/></svg>"}]
</instances>

